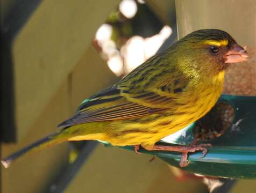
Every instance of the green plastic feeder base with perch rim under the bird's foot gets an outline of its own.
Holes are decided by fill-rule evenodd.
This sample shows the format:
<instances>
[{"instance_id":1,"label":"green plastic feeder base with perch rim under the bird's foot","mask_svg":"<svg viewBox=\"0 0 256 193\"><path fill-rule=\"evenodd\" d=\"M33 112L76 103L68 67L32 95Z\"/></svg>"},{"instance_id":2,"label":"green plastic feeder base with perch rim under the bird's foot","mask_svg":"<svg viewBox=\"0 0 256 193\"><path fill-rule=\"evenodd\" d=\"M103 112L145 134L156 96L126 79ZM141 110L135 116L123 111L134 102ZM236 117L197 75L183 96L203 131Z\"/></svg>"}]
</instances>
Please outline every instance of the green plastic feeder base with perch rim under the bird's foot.
<instances>
[{"instance_id":1,"label":"green plastic feeder base with perch rim under the bird's foot","mask_svg":"<svg viewBox=\"0 0 256 193\"><path fill-rule=\"evenodd\" d=\"M208 140L212 147L201 158L202 152L189 153L190 161L182 169L207 176L228 177L232 179L256 179L256 96L234 96L223 94L218 102L232 105L235 116L231 128L222 136ZM171 140L163 145L188 145L194 140L189 125L179 133L175 133ZM205 141L204 141L205 143ZM133 147L125 149L133 151ZM181 154L167 151L141 152L156 155L168 164L179 167Z\"/></svg>"}]
</instances>

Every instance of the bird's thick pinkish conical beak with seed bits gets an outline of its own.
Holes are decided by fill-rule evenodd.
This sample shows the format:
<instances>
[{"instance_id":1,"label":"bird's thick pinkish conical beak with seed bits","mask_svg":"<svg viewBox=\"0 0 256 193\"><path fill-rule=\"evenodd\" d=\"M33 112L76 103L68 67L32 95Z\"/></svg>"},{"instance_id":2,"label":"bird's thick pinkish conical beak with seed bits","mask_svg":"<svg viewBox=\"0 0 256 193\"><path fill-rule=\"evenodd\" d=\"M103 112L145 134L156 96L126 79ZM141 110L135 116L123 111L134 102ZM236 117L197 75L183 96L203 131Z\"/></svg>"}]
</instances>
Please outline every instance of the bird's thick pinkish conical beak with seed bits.
<instances>
[{"instance_id":1,"label":"bird's thick pinkish conical beak with seed bits","mask_svg":"<svg viewBox=\"0 0 256 193\"><path fill-rule=\"evenodd\" d=\"M244 62L248 57L247 51L244 48L234 44L224 56L224 61L225 63Z\"/></svg>"}]
</instances>

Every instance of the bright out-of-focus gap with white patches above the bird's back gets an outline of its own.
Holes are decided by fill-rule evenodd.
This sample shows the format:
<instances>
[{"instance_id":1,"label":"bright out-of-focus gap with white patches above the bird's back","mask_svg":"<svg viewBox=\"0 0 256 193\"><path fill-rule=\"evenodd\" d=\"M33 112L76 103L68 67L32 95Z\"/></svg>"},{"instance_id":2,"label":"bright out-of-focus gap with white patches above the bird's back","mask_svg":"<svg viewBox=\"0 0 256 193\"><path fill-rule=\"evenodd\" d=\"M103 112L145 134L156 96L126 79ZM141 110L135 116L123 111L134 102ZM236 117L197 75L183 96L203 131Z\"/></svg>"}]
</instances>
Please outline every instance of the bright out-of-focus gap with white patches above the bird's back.
<instances>
[{"instance_id":1,"label":"bright out-of-focus gap with white patches above the bird's back","mask_svg":"<svg viewBox=\"0 0 256 193\"><path fill-rule=\"evenodd\" d=\"M171 33L146 3L123 0L98 29L94 46L123 76L154 55Z\"/></svg>"}]
</instances>

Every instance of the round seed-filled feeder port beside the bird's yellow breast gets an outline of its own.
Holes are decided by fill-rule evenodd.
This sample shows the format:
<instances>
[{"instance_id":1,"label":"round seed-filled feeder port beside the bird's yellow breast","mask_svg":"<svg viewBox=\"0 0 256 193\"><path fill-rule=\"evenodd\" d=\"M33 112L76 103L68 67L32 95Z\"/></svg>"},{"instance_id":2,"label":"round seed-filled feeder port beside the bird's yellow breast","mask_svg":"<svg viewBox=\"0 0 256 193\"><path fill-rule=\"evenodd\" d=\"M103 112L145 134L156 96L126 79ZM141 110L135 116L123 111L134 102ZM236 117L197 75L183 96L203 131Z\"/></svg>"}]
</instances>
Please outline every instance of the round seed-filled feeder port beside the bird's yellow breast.
<instances>
[{"instance_id":1,"label":"round seed-filled feeder port beside the bird's yellow breast","mask_svg":"<svg viewBox=\"0 0 256 193\"><path fill-rule=\"evenodd\" d=\"M211 111L196 122L194 137L198 140L211 140L221 136L231 127L234 110L228 103L217 103Z\"/></svg>"}]
</instances>

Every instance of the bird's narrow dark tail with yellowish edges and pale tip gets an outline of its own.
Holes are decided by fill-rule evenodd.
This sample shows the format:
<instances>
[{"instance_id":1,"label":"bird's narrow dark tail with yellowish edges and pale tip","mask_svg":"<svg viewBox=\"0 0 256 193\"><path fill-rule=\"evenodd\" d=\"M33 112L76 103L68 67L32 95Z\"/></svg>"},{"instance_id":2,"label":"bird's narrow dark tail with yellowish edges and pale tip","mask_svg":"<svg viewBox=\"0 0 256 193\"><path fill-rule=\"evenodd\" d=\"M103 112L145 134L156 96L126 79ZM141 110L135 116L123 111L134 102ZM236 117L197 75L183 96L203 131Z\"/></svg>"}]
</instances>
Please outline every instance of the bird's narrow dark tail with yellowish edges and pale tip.
<instances>
[{"instance_id":1,"label":"bird's narrow dark tail with yellowish edges and pale tip","mask_svg":"<svg viewBox=\"0 0 256 193\"><path fill-rule=\"evenodd\" d=\"M16 153L9 155L8 157L1 160L3 166L5 168L8 168L13 161L18 159L22 155L30 154L30 153L34 152L35 150L43 149L44 147L59 144L65 140L67 140L66 138L58 137L60 133L61 132L52 133L51 135L48 135L47 137L44 137L44 138L38 140L37 142L34 142L31 145L24 147L22 150L19 150Z\"/></svg>"}]
</instances>

